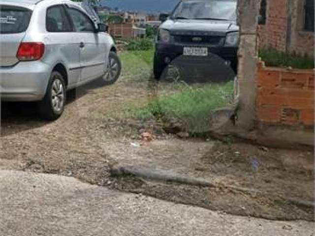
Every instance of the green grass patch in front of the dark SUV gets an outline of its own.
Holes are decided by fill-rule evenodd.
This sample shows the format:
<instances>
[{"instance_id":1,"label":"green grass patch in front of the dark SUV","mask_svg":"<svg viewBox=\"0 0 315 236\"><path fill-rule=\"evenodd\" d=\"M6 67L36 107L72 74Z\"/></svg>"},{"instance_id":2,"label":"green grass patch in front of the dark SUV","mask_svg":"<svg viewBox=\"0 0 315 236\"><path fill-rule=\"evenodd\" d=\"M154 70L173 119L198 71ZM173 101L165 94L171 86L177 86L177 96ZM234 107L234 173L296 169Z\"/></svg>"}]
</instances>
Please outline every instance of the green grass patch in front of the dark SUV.
<instances>
[{"instance_id":1,"label":"green grass patch in front of the dark SUV","mask_svg":"<svg viewBox=\"0 0 315 236\"><path fill-rule=\"evenodd\" d=\"M202 89L185 88L161 96L144 107L130 109L133 118L209 118L211 111L227 106L233 92L233 82L206 85Z\"/></svg>"}]
</instances>

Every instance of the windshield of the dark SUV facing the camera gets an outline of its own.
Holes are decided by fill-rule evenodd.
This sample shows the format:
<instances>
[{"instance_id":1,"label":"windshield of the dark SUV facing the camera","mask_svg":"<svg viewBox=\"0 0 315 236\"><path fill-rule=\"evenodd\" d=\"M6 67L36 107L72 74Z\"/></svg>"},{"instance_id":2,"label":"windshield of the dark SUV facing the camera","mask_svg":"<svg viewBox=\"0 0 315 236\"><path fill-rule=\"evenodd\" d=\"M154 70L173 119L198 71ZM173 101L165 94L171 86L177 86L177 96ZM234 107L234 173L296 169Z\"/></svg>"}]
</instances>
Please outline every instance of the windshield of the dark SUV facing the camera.
<instances>
[{"instance_id":1,"label":"windshield of the dark SUV facing the camera","mask_svg":"<svg viewBox=\"0 0 315 236\"><path fill-rule=\"evenodd\" d=\"M236 20L236 0L185 0L178 4L171 19Z\"/></svg>"}]
</instances>

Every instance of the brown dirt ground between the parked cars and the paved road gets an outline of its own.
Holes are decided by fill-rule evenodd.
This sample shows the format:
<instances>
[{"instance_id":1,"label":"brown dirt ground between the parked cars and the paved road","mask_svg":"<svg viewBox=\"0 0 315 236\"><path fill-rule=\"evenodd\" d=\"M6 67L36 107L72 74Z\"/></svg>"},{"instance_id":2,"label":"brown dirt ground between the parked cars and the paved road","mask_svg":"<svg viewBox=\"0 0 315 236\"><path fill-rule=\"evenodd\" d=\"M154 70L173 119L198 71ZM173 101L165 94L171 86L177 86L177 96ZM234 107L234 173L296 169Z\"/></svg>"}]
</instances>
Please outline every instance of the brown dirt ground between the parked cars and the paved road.
<instances>
[{"instance_id":1,"label":"brown dirt ground between the parked cars and the paved road","mask_svg":"<svg viewBox=\"0 0 315 236\"><path fill-rule=\"evenodd\" d=\"M312 152L257 147L233 139L179 139L163 132L155 120L127 119L126 108L144 104L151 96L150 66L144 61L132 71L128 66L115 85L101 87L95 82L68 92L65 113L55 122L39 119L35 104L2 103L0 169L73 176L240 215L314 220L313 208L284 200L314 201ZM152 130L154 141L143 143L141 133ZM109 172L114 164L167 170L264 194L115 179Z\"/></svg>"}]
</instances>

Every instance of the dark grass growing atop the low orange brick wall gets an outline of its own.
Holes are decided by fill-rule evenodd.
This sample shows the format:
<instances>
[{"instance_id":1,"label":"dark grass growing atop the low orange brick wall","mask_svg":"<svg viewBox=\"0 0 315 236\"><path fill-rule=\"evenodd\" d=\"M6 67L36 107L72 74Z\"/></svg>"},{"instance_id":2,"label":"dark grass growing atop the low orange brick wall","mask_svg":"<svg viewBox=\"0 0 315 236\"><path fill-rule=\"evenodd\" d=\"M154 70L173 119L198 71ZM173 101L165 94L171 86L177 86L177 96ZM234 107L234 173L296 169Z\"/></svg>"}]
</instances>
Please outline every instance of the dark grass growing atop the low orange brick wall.
<instances>
[{"instance_id":1,"label":"dark grass growing atop the low orange brick wall","mask_svg":"<svg viewBox=\"0 0 315 236\"><path fill-rule=\"evenodd\" d=\"M259 57L265 62L266 66L292 67L296 69L313 69L314 59L308 56L286 54L275 49L261 49Z\"/></svg>"}]
</instances>

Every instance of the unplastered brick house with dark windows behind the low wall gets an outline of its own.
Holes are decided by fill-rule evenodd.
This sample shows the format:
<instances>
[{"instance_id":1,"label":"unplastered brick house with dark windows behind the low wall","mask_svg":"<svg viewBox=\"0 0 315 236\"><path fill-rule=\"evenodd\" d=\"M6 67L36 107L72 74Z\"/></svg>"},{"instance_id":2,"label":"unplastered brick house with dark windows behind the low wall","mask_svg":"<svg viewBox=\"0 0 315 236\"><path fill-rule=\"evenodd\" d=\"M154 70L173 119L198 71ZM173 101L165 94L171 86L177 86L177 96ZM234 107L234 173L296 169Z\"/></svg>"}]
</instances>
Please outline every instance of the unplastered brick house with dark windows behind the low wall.
<instances>
[{"instance_id":1,"label":"unplastered brick house with dark windows behind the low wall","mask_svg":"<svg viewBox=\"0 0 315 236\"><path fill-rule=\"evenodd\" d=\"M314 57L314 1L261 0L259 47Z\"/></svg>"}]
</instances>

